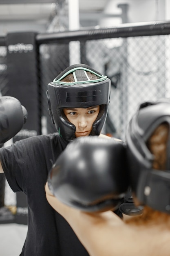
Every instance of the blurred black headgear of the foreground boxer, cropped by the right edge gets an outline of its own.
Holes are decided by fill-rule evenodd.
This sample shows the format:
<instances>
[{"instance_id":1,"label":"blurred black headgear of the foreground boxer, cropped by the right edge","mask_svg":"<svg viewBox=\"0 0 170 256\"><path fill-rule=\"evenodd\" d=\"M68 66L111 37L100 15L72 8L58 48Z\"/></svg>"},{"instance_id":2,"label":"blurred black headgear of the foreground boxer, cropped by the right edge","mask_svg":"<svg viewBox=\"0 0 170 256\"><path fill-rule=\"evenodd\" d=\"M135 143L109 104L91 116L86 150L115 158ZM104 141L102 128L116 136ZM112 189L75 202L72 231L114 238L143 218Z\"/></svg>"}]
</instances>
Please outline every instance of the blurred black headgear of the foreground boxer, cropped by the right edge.
<instances>
[{"instance_id":1,"label":"blurred black headgear of the foreground boxer, cropped by the right edge","mask_svg":"<svg viewBox=\"0 0 170 256\"><path fill-rule=\"evenodd\" d=\"M170 214L170 136L166 144L164 171L153 168L154 155L147 147L151 135L163 123L170 128L169 100L141 104L129 123L127 155L132 192L139 202Z\"/></svg>"}]
</instances>

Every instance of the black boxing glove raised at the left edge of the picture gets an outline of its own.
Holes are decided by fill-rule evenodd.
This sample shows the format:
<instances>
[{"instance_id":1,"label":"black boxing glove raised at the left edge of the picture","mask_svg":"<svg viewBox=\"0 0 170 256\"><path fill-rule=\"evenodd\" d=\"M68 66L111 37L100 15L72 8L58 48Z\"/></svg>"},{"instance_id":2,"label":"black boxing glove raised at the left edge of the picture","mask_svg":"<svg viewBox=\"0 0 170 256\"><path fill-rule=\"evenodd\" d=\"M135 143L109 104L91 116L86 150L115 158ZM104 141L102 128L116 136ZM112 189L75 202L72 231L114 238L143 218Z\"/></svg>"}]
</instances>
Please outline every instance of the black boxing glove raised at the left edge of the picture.
<instances>
[{"instance_id":1,"label":"black boxing glove raised at the left edge of the picture","mask_svg":"<svg viewBox=\"0 0 170 256\"><path fill-rule=\"evenodd\" d=\"M14 137L27 119L27 111L14 97L0 97L0 144Z\"/></svg>"}]
</instances>

